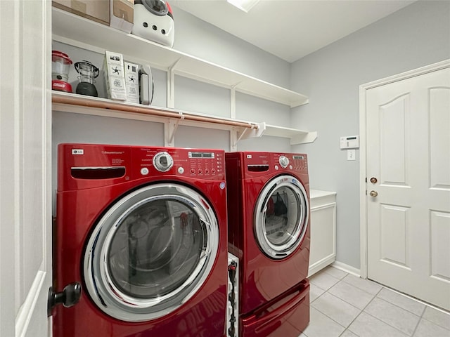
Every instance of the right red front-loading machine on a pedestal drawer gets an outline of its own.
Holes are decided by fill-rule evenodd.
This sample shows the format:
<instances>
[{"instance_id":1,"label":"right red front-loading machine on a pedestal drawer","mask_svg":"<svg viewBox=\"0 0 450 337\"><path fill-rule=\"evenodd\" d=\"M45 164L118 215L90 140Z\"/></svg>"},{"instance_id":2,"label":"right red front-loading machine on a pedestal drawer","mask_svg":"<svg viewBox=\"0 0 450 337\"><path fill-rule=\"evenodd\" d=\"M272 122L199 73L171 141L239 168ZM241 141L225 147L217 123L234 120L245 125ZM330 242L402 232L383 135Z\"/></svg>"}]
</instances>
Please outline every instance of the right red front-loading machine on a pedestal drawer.
<instances>
[{"instance_id":1,"label":"right red front-loading machine on a pedestal drawer","mask_svg":"<svg viewBox=\"0 0 450 337\"><path fill-rule=\"evenodd\" d=\"M225 158L229 251L240 263L240 336L297 337L309 323L307 155Z\"/></svg>"}]
</instances>

